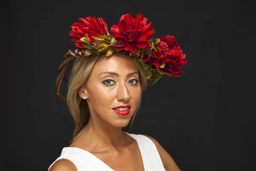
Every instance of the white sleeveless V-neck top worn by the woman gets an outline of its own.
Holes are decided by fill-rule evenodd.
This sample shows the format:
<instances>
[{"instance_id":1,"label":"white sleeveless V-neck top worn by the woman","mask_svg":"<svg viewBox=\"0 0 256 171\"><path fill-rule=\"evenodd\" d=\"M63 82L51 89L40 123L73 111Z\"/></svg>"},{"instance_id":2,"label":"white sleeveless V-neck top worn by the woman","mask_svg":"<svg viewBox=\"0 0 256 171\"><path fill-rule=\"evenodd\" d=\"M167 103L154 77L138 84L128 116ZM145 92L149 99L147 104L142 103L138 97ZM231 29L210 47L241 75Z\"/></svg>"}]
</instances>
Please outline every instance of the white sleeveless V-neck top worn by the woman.
<instances>
[{"instance_id":1,"label":"white sleeveless V-neck top worn by the woman","mask_svg":"<svg viewBox=\"0 0 256 171\"><path fill-rule=\"evenodd\" d=\"M131 136L131 138L135 139L138 143L145 171L166 171L163 167L163 162L160 158L157 148L151 139L140 134L127 134ZM81 148L64 147L62 149L61 156L58 157L50 165L50 167L58 159L69 159L74 163L74 165L76 165L77 171L114 171L112 168L102 162L102 160L90 152L82 150Z\"/></svg>"}]
</instances>

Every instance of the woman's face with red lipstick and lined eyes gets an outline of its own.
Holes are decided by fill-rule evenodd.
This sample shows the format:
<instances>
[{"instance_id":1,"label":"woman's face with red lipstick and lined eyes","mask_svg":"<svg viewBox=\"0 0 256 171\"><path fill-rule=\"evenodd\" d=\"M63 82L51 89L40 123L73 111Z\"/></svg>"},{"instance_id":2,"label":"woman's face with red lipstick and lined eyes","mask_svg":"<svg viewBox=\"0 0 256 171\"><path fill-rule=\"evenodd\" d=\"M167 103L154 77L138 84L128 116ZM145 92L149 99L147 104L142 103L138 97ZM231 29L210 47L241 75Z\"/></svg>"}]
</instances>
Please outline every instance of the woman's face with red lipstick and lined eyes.
<instances>
[{"instance_id":1,"label":"woman's face with red lipstick and lined eyes","mask_svg":"<svg viewBox=\"0 0 256 171\"><path fill-rule=\"evenodd\" d=\"M141 98L137 65L128 55L100 55L80 96L86 97L93 122L125 127ZM130 106L128 115L124 111L120 114L113 110L126 105Z\"/></svg>"}]
</instances>

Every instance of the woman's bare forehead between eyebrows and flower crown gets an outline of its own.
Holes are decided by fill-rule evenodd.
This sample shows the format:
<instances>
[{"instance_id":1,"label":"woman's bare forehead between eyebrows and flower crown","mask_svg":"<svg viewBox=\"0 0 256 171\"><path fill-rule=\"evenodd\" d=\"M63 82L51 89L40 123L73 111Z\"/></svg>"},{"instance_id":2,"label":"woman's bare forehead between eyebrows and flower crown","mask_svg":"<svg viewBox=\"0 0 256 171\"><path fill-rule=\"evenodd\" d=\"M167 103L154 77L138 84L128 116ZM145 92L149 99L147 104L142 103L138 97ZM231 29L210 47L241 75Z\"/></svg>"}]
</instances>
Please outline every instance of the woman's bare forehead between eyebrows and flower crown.
<instances>
[{"instance_id":1,"label":"woman's bare forehead between eyebrows and flower crown","mask_svg":"<svg viewBox=\"0 0 256 171\"><path fill-rule=\"evenodd\" d=\"M96 61L91 74L98 74L101 72L134 72L138 71L134 60L125 54L113 54L106 56L102 54Z\"/></svg>"}]
</instances>

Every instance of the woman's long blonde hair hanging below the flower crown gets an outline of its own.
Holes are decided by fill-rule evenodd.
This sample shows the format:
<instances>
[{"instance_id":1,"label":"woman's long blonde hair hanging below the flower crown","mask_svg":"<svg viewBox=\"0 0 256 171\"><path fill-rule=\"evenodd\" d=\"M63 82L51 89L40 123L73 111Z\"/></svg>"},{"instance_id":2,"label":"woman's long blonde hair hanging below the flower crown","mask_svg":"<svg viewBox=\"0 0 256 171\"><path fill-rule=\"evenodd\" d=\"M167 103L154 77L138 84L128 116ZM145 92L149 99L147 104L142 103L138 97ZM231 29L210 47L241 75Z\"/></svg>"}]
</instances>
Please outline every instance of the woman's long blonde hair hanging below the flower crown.
<instances>
[{"instance_id":1,"label":"woman's long blonde hair hanging below the flower crown","mask_svg":"<svg viewBox=\"0 0 256 171\"><path fill-rule=\"evenodd\" d=\"M95 65L99 56L83 55L77 58L73 64L73 67L69 76L67 105L69 107L70 113L72 114L76 124L75 130L73 132L73 139L76 139L76 137L79 136L81 131L89 122L90 110L89 110L88 104L86 100L81 100L78 94L78 91L80 90L81 87L84 86L84 83L87 80L88 76L90 75L90 72L93 69L93 66ZM143 91L145 90L147 85L143 66L140 62L137 61L138 58L135 58L135 57L130 57L130 58L134 58L134 62L137 65L137 68L139 71L140 87L141 87L141 90ZM141 103L141 98L135 110L134 116L132 118L131 125L133 124L134 117L136 116L136 113L140 108L140 103Z\"/></svg>"}]
</instances>

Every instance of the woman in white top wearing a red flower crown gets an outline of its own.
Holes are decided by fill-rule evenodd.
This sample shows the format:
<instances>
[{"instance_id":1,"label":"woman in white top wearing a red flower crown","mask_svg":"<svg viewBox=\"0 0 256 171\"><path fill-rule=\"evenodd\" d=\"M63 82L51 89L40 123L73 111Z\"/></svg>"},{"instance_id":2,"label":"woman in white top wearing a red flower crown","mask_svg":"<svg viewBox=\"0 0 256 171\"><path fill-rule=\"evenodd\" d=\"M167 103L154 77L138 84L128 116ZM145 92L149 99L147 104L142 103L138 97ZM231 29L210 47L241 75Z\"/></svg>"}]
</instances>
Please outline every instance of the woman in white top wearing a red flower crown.
<instances>
[{"instance_id":1,"label":"woman in white top wearing a red flower crown","mask_svg":"<svg viewBox=\"0 0 256 171\"><path fill-rule=\"evenodd\" d=\"M149 39L154 29L148 30L151 23L146 25L142 14L135 19L123 15L111 27L113 36L101 18L79 20L82 23L73 24L70 32L79 49L66 53L56 80L57 93L76 122L74 140L48 170L180 171L154 138L122 131L133 121L142 91L154 78L182 74L177 67L186 64L185 55L175 39ZM59 88L72 58L77 59L66 100Z\"/></svg>"}]
</instances>

